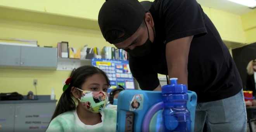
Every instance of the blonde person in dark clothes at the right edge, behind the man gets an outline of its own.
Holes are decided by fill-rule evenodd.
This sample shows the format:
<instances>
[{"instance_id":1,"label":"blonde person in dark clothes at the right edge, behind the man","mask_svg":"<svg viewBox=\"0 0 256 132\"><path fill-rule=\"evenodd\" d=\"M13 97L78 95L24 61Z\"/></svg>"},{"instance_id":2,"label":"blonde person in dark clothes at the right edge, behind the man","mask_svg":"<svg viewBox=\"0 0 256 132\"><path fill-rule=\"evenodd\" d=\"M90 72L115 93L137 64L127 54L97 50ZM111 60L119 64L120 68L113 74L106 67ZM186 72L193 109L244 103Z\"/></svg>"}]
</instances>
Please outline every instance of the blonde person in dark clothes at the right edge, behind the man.
<instances>
[{"instance_id":1,"label":"blonde person in dark clothes at the right edge, behind the man","mask_svg":"<svg viewBox=\"0 0 256 132\"><path fill-rule=\"evenodd\" d=\"M247 65L247 79L246 79L246 90L253 91L253 96L256 94L256 59L251 60ZM246 106L256 106L256 100L246 101Z\"/></svg>"}]
</instances>

